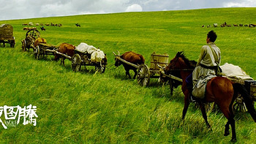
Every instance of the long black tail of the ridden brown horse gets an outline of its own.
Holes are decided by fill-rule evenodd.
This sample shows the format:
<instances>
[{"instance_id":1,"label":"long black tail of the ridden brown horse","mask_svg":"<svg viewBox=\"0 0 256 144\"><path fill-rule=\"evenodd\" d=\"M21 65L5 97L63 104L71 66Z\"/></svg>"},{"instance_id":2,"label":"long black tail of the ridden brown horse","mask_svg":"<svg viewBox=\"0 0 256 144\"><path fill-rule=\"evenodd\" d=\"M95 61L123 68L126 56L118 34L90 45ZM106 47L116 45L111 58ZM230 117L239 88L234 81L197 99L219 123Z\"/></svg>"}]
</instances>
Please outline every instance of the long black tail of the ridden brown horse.
<instances>
[{"instance_id":1,"label":"long black tail of the ridden brown horse","mask_svg":"<svg viewBox=\"0 0 256 144\"><path fill-rule=\"evenodd\" d=\"M238 92L239 94L241 94L241 96L243 96L244 103L246 105L248 113L252 116L253 120L256 122L256 111L255 111L255 107L252 105L252 99L249 96L249 91L247 91L246 88L240 83L233 83L233 88L234 88L234 91Z\"/></svg>"}]
</instances>

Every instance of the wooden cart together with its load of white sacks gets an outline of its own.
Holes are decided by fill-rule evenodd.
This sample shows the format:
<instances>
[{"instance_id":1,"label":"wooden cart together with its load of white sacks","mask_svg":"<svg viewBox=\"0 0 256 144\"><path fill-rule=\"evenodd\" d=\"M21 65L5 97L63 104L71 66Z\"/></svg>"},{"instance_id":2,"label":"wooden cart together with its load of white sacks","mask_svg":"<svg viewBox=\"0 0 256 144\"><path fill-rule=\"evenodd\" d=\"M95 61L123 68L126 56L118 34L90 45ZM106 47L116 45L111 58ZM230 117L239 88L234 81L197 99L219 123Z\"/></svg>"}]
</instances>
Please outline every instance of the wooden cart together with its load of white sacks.
<instances>
[{"instance_id":1,"label":"wooden cart together with its load of white sacks","mask_svg":"<svg viewBox=\"0 0 256 144\"><path fill-rule=\"evenodd\" d=\"M72 69L75 72L79 72L81 66L95 66L97 72L105 72L107 65L107 57L102 50L95 48L92 45L87 45L81 42L77 48L75 48L75 55L72 56Z\"/></svg>"}]
</instances>

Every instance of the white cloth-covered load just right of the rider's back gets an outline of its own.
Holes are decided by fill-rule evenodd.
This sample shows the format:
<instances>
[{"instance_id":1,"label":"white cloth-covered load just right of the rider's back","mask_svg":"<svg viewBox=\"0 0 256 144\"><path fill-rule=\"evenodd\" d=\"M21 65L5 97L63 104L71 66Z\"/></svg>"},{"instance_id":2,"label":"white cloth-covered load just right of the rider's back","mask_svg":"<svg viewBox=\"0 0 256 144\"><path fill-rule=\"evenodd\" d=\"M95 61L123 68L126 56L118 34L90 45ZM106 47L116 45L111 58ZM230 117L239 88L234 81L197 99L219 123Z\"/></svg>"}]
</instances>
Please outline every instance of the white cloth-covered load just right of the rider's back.
<instances>
[{"instance_id":1,"label":"white cloth-covered load just right of the rider's back","mask_svg":"<svg viewBox=\"0 0 256 144\"><path fill-rule=\"evenodd\" d=\"M235 66L233 64L225 63L224 65L220 66L220 68L222 68L222 74L227 77L235 78L238 80L253 80L252 77L246 75L246 72L244 72L241 67Z\"/></svg>"}]
</instances>

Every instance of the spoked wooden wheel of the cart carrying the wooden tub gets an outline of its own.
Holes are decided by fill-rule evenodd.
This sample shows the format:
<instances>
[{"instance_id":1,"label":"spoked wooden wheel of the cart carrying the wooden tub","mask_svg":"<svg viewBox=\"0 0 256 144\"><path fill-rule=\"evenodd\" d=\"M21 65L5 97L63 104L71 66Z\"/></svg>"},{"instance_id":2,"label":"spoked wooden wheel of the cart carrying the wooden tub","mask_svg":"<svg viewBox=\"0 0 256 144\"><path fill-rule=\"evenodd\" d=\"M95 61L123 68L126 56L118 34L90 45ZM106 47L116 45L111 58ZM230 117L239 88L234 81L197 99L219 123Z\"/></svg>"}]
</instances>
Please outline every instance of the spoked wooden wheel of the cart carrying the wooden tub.
<instances>
[{"instance_id":1,"label":"spoked wooden wheel of the cart carrying the wooden tub","mask_svg":"<svg viewBox=\"0 0 256 144\"><path fill-rule=\"evenodd\" d=\"M140 86L148 86L150 79L150 71L146 64L141 64L138 68L137 80Z\"/></svg>"}]
</instances>

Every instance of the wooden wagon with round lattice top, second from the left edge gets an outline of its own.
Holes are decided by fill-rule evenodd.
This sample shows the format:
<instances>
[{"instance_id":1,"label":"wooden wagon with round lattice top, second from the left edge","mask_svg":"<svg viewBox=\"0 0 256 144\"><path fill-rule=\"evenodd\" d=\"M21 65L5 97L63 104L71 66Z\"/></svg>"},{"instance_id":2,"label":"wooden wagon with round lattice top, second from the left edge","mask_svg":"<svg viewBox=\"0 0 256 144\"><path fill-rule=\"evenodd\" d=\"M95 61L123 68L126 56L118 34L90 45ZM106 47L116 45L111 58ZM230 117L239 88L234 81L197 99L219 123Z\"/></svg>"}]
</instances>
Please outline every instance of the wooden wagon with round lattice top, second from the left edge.
<instances>
[{"instance_id":1,"label":"wooden wagon with round lattice top, second from the left edge","mask_svg":"<svg viewBox=\"0 0 256 144\"><path fill-rule=\"evenodd\" d=\"M27 31L25 39L21 40L21 48L22 48L22 50L26 51L26 50L29 50L30 48L35 50L35 48L34 48L34 41L38 37L40 37L40 32L37 31L37 29L31 29L31 30Z\"/></svg>"}]
</instances>

